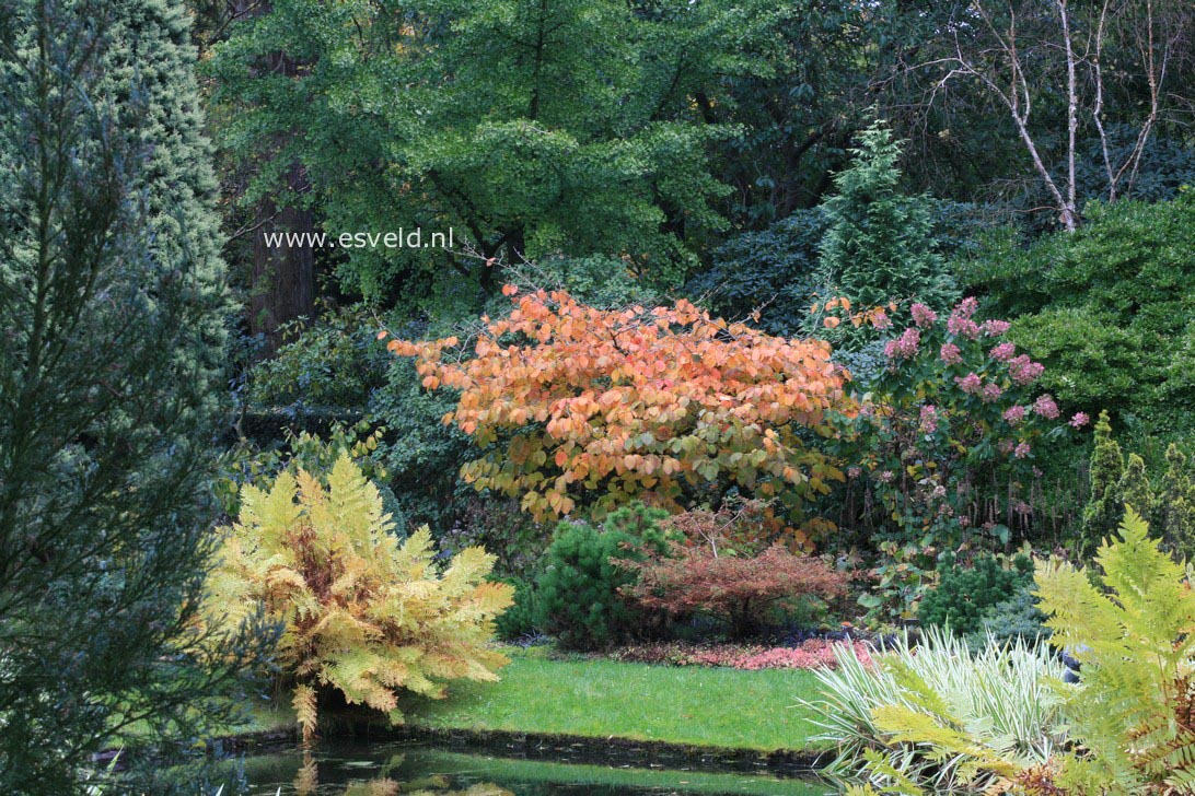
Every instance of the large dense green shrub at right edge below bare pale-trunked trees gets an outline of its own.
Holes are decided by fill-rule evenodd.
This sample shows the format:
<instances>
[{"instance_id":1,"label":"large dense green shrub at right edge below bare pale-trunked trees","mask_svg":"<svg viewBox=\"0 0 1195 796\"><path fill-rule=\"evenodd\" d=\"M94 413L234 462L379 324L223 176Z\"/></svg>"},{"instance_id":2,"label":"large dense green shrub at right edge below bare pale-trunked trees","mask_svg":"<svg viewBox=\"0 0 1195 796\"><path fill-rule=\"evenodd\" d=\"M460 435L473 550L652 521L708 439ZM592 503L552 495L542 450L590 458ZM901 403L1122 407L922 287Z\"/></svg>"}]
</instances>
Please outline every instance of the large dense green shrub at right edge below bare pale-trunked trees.
<instances>
[{"instance_id":1,"label":"large dense green shrub at right edge below bare pale-trunked trees","mask_svg":"<svg viewBox=\"0 0 1195 796\"><path fill-rule=\"evenodd\" d=\"M1060 403L1182 432L1195 406L1195 191L1093 202L1084 215L1073 234L993 239L958 264L961 278L1015 319L1011 339L1044 363Z\"/></svg>"}]
</instances>

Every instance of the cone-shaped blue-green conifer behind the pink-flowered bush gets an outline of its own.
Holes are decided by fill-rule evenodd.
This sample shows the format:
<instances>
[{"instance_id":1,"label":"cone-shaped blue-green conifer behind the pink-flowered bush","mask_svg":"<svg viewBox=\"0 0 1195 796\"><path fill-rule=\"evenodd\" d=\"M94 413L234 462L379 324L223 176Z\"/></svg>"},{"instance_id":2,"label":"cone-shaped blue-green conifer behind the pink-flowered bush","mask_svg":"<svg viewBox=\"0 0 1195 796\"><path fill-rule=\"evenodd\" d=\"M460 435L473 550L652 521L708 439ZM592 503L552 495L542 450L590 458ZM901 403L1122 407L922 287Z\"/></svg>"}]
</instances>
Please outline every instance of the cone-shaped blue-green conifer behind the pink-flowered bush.
<instances>
[{"instance_id":1,"label":"cone-shaped blue-green conifer behind the pink-flowered bush","mask_svg":"<svg viewBox=\"0 0 1195 796\"><path fill-rule=\"evenodd\" d=\"M851 166L834 178L836 193L822 209L827 230L821 242L819 280L831 296L845 296L859 309L897 302L907 320L913 302L945 309L956 297L933 235L933 203L900 192L900 143L881 122L859 135ZM815 315L815 328L821 316ZM846 347L875 332L839 327Z\"/></svg>"}]
</instances>

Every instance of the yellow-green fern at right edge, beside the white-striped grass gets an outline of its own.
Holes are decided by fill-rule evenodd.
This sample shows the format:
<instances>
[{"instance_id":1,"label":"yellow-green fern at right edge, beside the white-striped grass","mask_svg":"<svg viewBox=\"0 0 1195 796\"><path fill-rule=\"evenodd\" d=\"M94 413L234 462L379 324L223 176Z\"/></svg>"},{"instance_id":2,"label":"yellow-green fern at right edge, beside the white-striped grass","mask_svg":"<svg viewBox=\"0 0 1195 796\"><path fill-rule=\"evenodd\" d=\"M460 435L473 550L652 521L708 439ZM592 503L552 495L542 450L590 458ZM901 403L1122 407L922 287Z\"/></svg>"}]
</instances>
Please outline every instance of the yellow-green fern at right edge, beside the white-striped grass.
<instances>
[{"instance_id":1,"label":"yellow-green fern at right edge, beside the white-striped grass","mask_svg":"<svg viewBox=\"0 0 1195 796\"><path fill-rule=\"evenodd\" d=\"M1060 782L1097 783L1103 792L1189 792L1195 592L1132 508L1096 566L1092 575L1050 561L1036 576L1052 643L1083 666L1080 687L1064 693L1071 736L1085 753L1067 755Z\"/></svg>"}]
</instances>

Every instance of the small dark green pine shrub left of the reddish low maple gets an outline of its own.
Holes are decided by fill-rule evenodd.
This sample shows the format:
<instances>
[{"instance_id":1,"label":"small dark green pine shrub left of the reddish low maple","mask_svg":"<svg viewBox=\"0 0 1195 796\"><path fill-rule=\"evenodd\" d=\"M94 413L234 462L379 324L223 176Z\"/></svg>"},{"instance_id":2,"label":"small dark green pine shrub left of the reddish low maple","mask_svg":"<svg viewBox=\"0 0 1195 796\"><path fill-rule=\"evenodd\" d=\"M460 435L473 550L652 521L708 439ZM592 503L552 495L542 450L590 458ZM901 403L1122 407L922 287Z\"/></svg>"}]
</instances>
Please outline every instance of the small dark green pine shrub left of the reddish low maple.
<instances>
[{"instance_id":1,"label":"small dark green pine shrub left of the reddish low maple","mask_svg":"<svg viewBox=\"0 0 1195 796\"><path fill-rule=\"evenodd\" d=\"M600 649L632 635L642 615L619 590L636 574L612 560L638 560L642 550L662 554L666 535L658 523L664 517L633 504L600 526L560 523L535 582L535 624L571 649Z\"/></svg>"}]
</instances>

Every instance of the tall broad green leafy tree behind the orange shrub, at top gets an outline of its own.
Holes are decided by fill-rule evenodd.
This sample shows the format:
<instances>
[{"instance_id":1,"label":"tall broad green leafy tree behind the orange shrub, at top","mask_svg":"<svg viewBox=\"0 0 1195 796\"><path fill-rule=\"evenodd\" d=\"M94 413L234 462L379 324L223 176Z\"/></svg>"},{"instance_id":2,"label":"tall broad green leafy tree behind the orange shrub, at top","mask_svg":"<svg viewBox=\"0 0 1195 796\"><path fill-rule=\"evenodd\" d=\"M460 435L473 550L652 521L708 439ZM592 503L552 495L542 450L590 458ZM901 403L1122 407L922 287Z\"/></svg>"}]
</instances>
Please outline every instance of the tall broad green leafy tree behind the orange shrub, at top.
<instances>
[{"instance_id":1,"label":"tall broad green leafy tree behind the orange shrub, at top","mask_svg":"<svg viewBox=\"0 0 1195 796\"><path fill-rule=\"evenodd\" d=\"M425 243L452 228L472 252L326 254L349 286L400 291L416 311L460 302L472 313L502 284L497 261L558 253L673 284L723 224L707 149L729 134L675 90L684 73L660 68L670 31L705 24L697 6L678 13L657 20L613 0L402 11L277 0L214 48L223 140L259 165L246 200L293 198L332 233L421 228ZM305 64L301 75L255 72L276 51ZM286 197L289 162L308 193Z\"/></svg>"}]
</instances>

